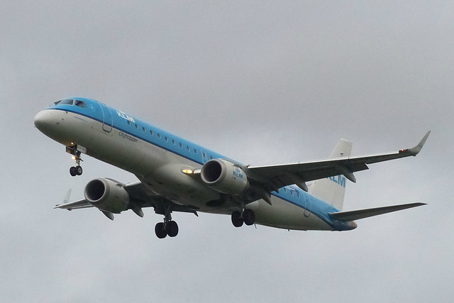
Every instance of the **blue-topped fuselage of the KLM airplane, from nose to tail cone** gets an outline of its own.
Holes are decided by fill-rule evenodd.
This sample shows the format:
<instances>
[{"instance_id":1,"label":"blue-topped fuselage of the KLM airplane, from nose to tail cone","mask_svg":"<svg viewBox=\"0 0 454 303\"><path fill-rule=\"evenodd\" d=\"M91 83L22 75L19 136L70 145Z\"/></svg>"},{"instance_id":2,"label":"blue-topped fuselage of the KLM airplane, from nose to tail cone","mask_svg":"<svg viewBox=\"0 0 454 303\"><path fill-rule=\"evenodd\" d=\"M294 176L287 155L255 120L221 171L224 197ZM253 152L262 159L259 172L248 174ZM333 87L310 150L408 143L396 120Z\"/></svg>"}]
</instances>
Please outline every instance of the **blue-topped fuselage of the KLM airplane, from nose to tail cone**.
<instances>
[{"instance_id":1,"label":"blue-topped fuselage of the KLM airplane, from nose to tail cone","mask_svg":"<svg viewBox=\"0 0 454 303\"><path fill-rule=\"evenodd\" d=\"M238 210L234 199L184 170L200 169L211 159L239 162L99 101L71 97L56 102L35 116L35 126L62 145L82 146L87 155L133 173L151 191L172 202L213 214ZM246 205L255 212L257 224L326 231L356 227L354 222L331 219L328 213L337 209L296 186L272 192L271 202L259 199Z\"/></svg>"}]
</instances>

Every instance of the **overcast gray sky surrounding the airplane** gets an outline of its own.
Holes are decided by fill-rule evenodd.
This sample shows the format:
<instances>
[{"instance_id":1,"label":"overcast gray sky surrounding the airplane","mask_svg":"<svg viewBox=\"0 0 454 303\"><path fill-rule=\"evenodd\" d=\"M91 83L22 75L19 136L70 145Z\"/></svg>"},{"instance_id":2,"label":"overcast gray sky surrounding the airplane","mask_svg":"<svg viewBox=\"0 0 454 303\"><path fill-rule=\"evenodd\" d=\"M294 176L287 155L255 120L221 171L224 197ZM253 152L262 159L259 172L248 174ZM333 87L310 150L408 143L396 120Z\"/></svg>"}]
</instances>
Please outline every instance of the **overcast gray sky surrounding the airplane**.
<instances>
[{"instance_id":1,"label":"overcast gray sky surrounding the airplane","mask_svg":"<svg viewBox=\"0 0 454 303\"><path fill-rule=\"evenodd\" d=\"M1 302L448 302L454 5L449 1L1 1ZM145 209L61 211L95 177L135 177L33 127L52 101L92 97L240 162L414 146L371 165L345 209L428 206L349 232L234 228Z\"/></svg>"}]
</instances>

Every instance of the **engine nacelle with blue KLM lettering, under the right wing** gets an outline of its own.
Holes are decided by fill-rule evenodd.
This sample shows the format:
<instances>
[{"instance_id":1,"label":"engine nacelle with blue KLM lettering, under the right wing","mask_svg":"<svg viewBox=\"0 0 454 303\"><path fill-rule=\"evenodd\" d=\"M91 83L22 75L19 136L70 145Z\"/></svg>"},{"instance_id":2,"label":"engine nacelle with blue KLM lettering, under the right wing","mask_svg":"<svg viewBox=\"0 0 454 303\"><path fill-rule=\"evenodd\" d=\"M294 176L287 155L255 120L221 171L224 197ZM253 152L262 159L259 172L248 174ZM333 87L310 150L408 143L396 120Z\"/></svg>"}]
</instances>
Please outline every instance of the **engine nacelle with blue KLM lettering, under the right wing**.
<instances>
[{"instance_id":1,"label":"engine nacelle with blue KLM lettering, under the right wing","mask_svg":"<svg viewBox=\"0 0 454 303\"><path fill-rule=\"evenodd\" d=\"M201 167L201 180L224 194L240 194L248 188L245 172L238 165L223 159L209 160Z\"/></svg>"}]
</instances>

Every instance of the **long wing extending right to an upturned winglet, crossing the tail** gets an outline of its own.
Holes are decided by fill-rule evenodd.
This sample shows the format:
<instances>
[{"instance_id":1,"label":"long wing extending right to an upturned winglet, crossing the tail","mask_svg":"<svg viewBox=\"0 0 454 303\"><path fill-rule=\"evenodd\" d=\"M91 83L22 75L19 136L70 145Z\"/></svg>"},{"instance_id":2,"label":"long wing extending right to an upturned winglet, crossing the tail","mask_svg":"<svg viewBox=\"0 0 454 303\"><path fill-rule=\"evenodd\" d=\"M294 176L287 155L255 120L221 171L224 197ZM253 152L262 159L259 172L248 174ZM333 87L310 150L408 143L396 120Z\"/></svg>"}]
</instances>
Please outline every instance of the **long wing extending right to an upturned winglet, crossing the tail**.
<instances>
[{"instance_id":1,"label":"long wing extending right to an upturned winglet, crossing the tail","mask_svg":"<svg viewBox=\"0 0 454 303\"><path fill-rule=\"evenodd\" d=\"M356 182L353 172L367 170L369 168L367 164L405 158L411 155L416 156L423 148L430 133L431 131L428 131L414 148L402 149L395 153L333 158L284 165L250 166L247 168L247 174L253 182L261 185L267 192L290 184L297 184L301 189L307 191L305 182L335 175L344 175L348 180Z\"/></svg>"}]
</instances>

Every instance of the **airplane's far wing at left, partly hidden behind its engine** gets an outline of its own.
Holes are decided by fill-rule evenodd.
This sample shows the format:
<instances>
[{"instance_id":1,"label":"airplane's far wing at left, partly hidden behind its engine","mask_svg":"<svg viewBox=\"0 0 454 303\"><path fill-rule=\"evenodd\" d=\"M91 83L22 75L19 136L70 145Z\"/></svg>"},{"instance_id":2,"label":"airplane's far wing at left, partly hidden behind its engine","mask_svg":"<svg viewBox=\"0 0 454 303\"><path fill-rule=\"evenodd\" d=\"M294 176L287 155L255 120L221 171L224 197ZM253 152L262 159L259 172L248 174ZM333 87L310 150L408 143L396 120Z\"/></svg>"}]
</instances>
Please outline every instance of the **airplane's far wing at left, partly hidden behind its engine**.
<instances>
[{"instance_id":1,"label":"airplane's far wing at left, partly hidden behind its engine","mask_svg":"<svg viewBox=\"0 0 454 303\"><path fill-rule=\"evenodd\" d=\"M116 182L116 181L115 181ZM118 182L119 183L119 182ZM120 184L120 183L119 183ZM121 184L129 196L129 209L132 209L138 216L143 216L143 207L154 207L156 214L165 214L166 211L180 211L189 212L197 215L194 209L190 209L187 206L175 204L169 199L165 199L160 195L157 195L150 191L142 182L135 182L129 184ZM69 194L65 197L65 201L69 200ZM87 202L86 199L81 199L74 202L57 204L55 209L84 209L88 207L94 207L92 204ZM103 213L111 220L114 219L114 215L103 211Z\"/></svg>"}]
</instances>

